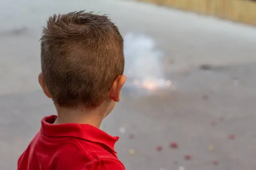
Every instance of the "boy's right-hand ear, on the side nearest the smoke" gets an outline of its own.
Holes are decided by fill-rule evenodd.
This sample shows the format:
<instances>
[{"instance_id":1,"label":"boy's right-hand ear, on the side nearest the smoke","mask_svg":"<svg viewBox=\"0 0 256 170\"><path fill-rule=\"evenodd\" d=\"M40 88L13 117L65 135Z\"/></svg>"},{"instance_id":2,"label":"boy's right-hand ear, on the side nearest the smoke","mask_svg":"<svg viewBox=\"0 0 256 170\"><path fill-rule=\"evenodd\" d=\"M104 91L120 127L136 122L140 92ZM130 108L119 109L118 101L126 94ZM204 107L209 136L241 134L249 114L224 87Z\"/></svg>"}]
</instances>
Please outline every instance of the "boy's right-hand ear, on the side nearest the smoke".
<instances>
[{"instance_id":1,"label":"boy's right-hand ear, on the side nearest the smoke","mask_svg":"<svg viewBox=\"0 0 256 170\"><path fill-rule=\"evenodd\" d=\"M125 84L125 81L126 81L125 75L120 75L115 79L109 94L110 98L114 100L114 102L119 102L121 89Z\"/></svg>"}]
</instances>

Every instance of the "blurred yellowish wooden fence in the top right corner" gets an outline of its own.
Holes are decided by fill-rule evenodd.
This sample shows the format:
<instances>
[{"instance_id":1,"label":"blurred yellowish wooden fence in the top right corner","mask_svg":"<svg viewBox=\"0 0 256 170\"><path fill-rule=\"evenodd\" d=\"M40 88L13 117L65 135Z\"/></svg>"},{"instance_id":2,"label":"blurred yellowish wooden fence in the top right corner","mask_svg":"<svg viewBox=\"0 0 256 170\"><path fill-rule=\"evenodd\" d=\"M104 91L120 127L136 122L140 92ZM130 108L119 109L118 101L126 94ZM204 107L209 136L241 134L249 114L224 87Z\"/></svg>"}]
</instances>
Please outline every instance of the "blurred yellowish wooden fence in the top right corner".
<instances>
[{"instance_id":1,"label":"blurred yellowish wooden fence in the top right corner","mask_svg":"<svg viewBox=\"0 0 256 170\"><path fill-rule=\"evenodd\" d=\"M137 0L256 25L256 2L249 0Z\"/></svg>"}]
</instances>

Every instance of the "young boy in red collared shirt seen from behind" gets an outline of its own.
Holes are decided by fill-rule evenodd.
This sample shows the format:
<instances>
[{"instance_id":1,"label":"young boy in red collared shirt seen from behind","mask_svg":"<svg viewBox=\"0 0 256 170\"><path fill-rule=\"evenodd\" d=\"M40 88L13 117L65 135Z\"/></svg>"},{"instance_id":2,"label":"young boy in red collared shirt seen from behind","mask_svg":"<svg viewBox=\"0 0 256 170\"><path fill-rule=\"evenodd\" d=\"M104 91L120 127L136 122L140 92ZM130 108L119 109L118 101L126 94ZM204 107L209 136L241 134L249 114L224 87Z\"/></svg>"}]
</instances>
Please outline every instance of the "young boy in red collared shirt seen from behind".
<instances>
[{"instance_id":1,"label":"young boy in red collared shirt seen from behind","mask_svg":"<svg viewBox=\"0 0 256 170\"><path fill-rule=\"evenodd\" d=\"M114 150L118 137L99 129L120 100L123 69L123 38L105 15L51 16L38 80L58 116L42 119L18 170L124 170Z\"/></svg>"}]
</instances>

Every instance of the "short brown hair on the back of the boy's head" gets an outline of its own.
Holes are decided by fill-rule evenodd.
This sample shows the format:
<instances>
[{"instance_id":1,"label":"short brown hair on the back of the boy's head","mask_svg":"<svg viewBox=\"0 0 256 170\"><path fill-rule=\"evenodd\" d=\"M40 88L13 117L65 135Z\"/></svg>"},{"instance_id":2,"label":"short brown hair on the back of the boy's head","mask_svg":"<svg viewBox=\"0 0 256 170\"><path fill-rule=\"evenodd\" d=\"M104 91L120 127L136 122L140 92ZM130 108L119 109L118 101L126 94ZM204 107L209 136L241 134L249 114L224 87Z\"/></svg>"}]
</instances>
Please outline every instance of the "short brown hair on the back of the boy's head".
<instances>
[{"instance_id":1,"label":"short brown hair on the back of the boy's head","mask_svg":"<svg viewBox=\"0 0 256 170\"><path fill-rule=\"evenodd\" d=\"M61 107L97 107L123 74L123 38L105 15L54 14L40 40L44 81Z\"/></svg>"}]
</instances>

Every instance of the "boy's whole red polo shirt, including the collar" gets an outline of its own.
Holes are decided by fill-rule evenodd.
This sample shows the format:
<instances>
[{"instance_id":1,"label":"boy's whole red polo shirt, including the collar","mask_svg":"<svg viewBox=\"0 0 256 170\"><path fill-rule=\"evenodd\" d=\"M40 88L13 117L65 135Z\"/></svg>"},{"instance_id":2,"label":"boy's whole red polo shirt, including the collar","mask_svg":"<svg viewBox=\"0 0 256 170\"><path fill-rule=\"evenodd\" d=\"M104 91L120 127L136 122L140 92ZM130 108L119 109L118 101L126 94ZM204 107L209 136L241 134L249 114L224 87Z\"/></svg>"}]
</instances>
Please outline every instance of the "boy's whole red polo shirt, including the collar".
<instances>
[{"instance_id":1,"label":"boy's whole red polo shirt, including the collar","mask_svg":"<svg viewBox=\"0 0 256 170\"><path fill-rule=\"evenodd\" d=\"M42 119L41 130L18 160L18 170L124 170L112 137L88 124L53 124Z\"/></svg>"}]
</instances>

